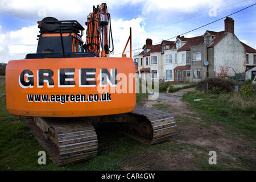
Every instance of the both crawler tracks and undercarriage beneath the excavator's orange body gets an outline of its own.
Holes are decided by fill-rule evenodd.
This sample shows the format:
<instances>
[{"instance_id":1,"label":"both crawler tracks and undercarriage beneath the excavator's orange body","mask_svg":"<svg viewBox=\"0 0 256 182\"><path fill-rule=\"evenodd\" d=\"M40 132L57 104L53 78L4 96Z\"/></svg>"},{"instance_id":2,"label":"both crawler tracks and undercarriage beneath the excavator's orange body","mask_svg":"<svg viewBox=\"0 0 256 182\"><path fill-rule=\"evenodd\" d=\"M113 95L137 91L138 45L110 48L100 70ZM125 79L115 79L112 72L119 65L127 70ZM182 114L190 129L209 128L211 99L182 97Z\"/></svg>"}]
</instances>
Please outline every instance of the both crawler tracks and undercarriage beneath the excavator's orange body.
<instances>
[{"instance_id":1,"label":"both crawler tracks and undercarriage beneath the excavator's orange body","mask_svg":"<svg viewBox=\"0 0 256 182\"><path fill-rule=\"evenodd\" d=\"M74 163L97 155L98 140L92 124L104 122L115 123L113 128L119 133L144 144L163 142L176 132L176 122L168 111L137 105L131 113L101 117L35 117L34 125L41 132L34 131L34 135L53 163Z\"/></svg>"}]
</instances>

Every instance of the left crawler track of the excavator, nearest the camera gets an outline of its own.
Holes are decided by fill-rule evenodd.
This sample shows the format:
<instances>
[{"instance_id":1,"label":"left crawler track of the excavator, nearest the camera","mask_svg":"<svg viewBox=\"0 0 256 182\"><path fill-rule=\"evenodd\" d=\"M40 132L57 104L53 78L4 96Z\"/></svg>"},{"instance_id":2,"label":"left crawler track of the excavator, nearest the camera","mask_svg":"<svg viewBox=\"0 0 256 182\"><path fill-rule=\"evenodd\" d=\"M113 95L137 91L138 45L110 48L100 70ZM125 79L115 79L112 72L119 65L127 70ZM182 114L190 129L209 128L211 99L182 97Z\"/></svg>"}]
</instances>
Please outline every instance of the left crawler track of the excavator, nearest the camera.
<instances>
[{"instance_id":1,"label":"left crawler track of the excavator, nearest the camera","mask_svg":"<svg viewBox=\"0 0 256 182\"><path fill-rule=\"evenodd\" d=\"M87 160L97 155L98 140L94 127L90 123L76 118L34 118L35 124L43 131L44 137L58 148L57 165ZM51 147L44 147L51 155Z\"/></svg>"}]
</instances>

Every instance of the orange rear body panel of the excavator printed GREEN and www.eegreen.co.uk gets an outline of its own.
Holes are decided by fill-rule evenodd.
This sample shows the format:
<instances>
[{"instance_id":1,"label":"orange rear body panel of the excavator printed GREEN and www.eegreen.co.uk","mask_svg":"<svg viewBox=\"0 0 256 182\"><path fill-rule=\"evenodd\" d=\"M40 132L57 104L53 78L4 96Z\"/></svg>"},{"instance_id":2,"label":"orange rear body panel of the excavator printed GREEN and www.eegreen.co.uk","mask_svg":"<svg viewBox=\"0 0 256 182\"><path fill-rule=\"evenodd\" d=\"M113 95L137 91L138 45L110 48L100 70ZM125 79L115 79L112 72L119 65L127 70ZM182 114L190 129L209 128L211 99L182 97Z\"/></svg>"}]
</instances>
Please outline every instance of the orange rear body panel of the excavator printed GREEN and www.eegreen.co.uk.
<instances>
[{"instance_id":1,"label":"orange rear body panel of the excavator printed GREEN and www.eegreen.co.uk","mask_svg":"<svg viewBox=\"0 0 256 182\"><path fill-rule=\"evenodd\" d=\"M75 68L73 73L73 79L68 78L67 80L75 81L75 85L72 87L59 87L59 69L64 68ZM80 72L82 68L96 68L96 79L101 76L101 68L117 69L117 73L123 73L126 77L129 77L129 73L135 71L135 66L131 58L117 58L117 57L79 57L79 58L61 58L61 59L30 59L30 60L15 60L9 61L6 67L6 105L7 109L11 114L25 115L33 117L87 117L95 115L109 115L127 113L133 111L136 103L135 96L135 79L133 81L133 88L129 88L127 84L126 93L112 93L110 89L122 88L118 85L122 78L117 80L117 86L110 86L109 82L107 86L101 87L105 89L105 92L111 94L111 101L68 101L71 95L82 95L85 94L85 98L88 98L89 94L98 94L101 98L101 93L98 92L97 88L100 84L100 80L97 80L97 85L94 87L81 87L79 84ZM34 86L32 88L22 88L20 86L20 73L23 70L29 69L33 74ZM54 73L52 79L54 86L49 87L47 82L43 82L42 87L38 87L38 69L51 69ZM28 82L27 77L24 76L24 81ZM44 75L47 76L47 75ZM31 79L31 77L30 77ZM92 78L90 78L93 80ZM128 83L128 81L127 81ZM107 89L107 90L106 90ZM133 93L130 93L132 90ZM48 100L42 102L42 98L39 102L33 101L28 102L28 95L47 95ZM56 95L64 95L67 97L67 102L61 104L61 102L51 102L49 98L55 97ZM63 97L64 98L64 97ZM56 97L57 100L57 97Z\"/></svg>"}]
</instances>

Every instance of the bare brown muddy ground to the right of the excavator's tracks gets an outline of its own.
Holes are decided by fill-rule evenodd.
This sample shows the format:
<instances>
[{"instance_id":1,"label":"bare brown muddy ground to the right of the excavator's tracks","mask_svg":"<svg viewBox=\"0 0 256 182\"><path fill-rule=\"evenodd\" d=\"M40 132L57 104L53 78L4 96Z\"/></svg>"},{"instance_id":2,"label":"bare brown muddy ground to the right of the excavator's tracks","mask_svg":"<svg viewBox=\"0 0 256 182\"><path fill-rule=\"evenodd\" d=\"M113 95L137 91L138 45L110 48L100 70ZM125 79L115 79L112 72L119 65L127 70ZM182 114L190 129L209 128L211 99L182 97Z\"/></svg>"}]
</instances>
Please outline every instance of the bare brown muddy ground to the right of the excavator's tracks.
<instances>
[{"instance_id":1,"label":"bare brown muddy ground to the right of the excavator's tracks","mask_svg":"<svg viewBox=\"0 0 256 182\"><path fill-rule=\"evenodd\" d=\"M125 170L200 170L208 169L209 151L217 152L217 163L224 169L255 170L256 150L245 144L242 139L234 137L220 123L208 125L197 113L189 110L182 100L147 100L146 107L155 104L167 106L167 110L177 121L177 134L172 140L164 143L171 150L159 152L147 151L141 155L131 155L125 160ZM238 134L239 135L239 134ZM241 134L240 134L241 135ZM159 147L163 144L156 144ZM246 161L254 161L254 165L246 166ZM210 166L210 165L209 165ZM222 168L220 168L222 169Z\"/></svg>"}]
</instances>

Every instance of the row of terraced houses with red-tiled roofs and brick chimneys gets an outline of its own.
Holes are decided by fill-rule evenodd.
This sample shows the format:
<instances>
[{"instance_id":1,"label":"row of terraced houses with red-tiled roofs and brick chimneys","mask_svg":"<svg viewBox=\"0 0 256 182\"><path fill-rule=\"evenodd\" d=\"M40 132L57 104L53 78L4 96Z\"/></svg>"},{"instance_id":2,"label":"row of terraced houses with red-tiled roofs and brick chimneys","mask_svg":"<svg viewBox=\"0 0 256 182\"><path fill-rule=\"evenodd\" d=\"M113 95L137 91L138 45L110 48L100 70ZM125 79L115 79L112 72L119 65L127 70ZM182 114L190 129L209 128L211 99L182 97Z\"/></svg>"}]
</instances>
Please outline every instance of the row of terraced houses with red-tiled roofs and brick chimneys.
<instances>
[{"instance_id":1,"label":"row of terraced houses with red-tiled roofs and brick chimneys","mask_svg":"<svg viewBox=\"0 0 256 182\"><path fill-rule=\"evenodd\" d=\"M144 80L196 82L207 77L234 76L256 66L256 50L234 34L234 20L226 17L225 30L205 31L193 38L177 36L152 45L146 39L143 51L134 56Z\"/></svg>"}]
</instances>

